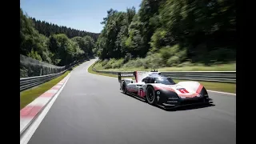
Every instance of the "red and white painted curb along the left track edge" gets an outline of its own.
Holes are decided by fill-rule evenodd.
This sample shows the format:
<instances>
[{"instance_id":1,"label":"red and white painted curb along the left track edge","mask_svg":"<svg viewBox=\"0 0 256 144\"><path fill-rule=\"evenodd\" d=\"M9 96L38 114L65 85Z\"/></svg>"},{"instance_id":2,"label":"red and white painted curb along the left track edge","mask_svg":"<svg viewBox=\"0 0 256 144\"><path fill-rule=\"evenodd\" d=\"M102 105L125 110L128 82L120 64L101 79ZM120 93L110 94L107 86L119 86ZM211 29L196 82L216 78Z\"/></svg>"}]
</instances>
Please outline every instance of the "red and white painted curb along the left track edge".
<instances>
[{"instance_id":1,"label":"red and white painted curb along the left track edge","mask_svg":"<svg viewBox=\"0 0 256 144\"><path fill-rule=\"evenodd\" d=\"M38 113L43 110L43 108L47 105L48 102L54 95L61 90L64 83L68 80L70 74L68 74L62 81L58 82L57 85L53 86L50 90L47 90L44 94L40 95L38 98L34 99L33 102L30 102L27 106L25 106L22 110L20 110L20 133L33 122L34 118L37 117Z\"/></svg>"}]
</instances>

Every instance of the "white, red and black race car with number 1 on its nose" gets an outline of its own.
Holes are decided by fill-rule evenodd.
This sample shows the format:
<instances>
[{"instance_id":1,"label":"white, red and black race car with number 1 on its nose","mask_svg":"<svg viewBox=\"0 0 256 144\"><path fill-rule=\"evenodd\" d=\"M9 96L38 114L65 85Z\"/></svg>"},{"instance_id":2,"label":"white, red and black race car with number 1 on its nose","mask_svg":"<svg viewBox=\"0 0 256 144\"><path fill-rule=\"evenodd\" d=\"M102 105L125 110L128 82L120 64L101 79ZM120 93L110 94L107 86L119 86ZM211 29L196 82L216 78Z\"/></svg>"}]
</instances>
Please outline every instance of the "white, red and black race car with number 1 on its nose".
<instances>
[{"instance_id":1,"label":"white, red and black race car with number 1 on its nose","mask_svg":"<svg viewBox=\"0 0 256 144\"><path fill-rule=\"evenodd\" d=\"M132 94L150 105L158 105L164 109L173 109L179 106L210 104L207 90L202 84L194 81L175 83L172 78L164 76L156 70L134 71L135 80L122 78L118 73L120 90L124 94Z\"/></svg>"}]
</instances>

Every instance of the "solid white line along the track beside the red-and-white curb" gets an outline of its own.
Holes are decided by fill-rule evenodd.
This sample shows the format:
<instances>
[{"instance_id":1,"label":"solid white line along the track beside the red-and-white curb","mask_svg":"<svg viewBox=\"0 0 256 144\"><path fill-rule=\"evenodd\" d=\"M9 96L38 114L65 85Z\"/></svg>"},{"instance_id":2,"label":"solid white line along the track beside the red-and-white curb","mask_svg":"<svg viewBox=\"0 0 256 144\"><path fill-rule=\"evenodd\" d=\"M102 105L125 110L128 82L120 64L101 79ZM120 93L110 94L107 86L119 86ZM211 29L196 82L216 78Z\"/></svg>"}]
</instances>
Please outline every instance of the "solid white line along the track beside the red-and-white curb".
<instances>
[{"instance_id":1,"label":"solid white line along the track beside the red-and-white curb","mask_svg":"<svg viewBox=\"0 0 256 144\"><path fill-rule=\"evenodd\" d=\"M68 78L66 79L66 82L69 80L70 74ZM58 95L62 92L62 89L66 85L66 82L62 86L60 90L58 90L58 93L54 96L54 98L48 103L48 105L42 110L42 113L38 115L38 118L34 120L34 122L30 125L30 127L26 130L26 132L23 134L22 138L20 139L20 144L26 144L30 141L30 138L34 134L35 130L37 130L38 126L42 122L43 118L45 118L46 114L50 110L50 107L53 106L55 100L58 98Z\"/></svg>"}]
</instances>

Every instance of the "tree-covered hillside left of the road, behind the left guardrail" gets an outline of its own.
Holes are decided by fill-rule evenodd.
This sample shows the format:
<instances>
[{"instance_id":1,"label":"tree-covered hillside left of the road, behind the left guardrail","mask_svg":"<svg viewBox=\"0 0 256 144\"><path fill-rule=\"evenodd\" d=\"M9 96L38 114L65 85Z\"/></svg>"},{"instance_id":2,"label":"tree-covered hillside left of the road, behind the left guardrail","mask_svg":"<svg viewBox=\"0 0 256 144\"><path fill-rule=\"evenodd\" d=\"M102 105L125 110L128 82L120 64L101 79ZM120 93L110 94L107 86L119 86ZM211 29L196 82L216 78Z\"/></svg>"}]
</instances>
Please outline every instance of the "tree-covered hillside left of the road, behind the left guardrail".
<instances>
[{"instance_id":1,"label":"tree-covered hillside left of the road, behind the left guardrail","mask_svg":"<svg viewBox=\"0 0 256 144\"><path fill-rule=\"evenodd\" d=\"M56 66L66 66L93 56L97 34L35 22L20 10L20 54ZM70 34L70 38L66 34Z\"/></svg>"}]
</instances>

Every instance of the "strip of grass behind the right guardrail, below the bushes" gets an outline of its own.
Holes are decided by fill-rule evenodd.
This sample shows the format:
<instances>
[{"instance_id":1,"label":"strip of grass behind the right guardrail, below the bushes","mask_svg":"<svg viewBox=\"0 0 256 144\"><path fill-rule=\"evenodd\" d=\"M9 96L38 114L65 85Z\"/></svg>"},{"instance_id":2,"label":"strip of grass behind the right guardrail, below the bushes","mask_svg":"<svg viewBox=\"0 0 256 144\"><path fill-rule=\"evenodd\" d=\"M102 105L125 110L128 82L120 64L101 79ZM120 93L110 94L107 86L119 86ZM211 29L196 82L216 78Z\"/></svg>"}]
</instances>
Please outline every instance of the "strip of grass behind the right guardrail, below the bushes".
<instances>
[{"instance_id":1,"label":"strip of grass behind the right guardrail, below the bushes","mask_svg":"<svg viewBox=\"0 0 256 144\"><path fill-rule=\"evenodd\" d=\"M104 69L101 62L98 62L94 68L96 70L108 70L108 71L134 71L134 70L151 70L144 67L121 67L119 69ZM158 71L235 71L236 63L219 64L212 66L204 66L202 64L194 64L194 66L182 66L182 67L162 67Z\"/></svg>"}]
</instances>

